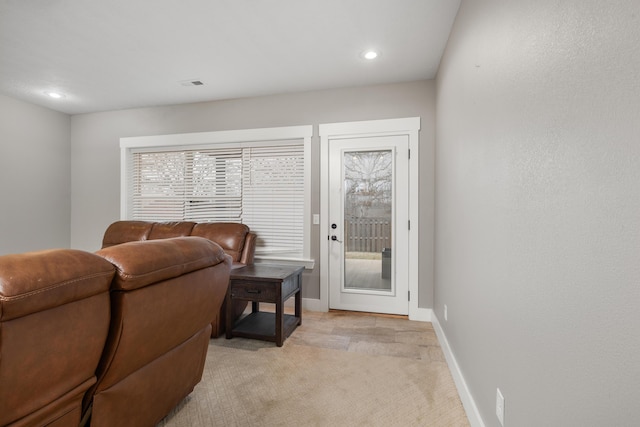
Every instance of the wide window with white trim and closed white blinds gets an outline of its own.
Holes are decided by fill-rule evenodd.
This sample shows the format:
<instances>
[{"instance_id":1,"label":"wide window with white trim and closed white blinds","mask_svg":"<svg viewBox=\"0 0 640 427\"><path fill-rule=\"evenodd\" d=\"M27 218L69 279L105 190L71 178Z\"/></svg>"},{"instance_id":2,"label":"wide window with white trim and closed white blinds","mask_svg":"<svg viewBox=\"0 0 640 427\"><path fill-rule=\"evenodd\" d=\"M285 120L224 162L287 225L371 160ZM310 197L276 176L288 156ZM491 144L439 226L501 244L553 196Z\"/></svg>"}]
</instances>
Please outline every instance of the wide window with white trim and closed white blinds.
<instances>
[{"instance_id":1,"label":"wide window with white trim and closed white blinds","mask_svg":"<svg viewBox=\"0 0 640 427\"><path fill-rule=\"evenodd\" d=\"M310 138L311 126L122 138L121 216L241 222L258 261L312 268Z\"/></svg>"}]
</instances>

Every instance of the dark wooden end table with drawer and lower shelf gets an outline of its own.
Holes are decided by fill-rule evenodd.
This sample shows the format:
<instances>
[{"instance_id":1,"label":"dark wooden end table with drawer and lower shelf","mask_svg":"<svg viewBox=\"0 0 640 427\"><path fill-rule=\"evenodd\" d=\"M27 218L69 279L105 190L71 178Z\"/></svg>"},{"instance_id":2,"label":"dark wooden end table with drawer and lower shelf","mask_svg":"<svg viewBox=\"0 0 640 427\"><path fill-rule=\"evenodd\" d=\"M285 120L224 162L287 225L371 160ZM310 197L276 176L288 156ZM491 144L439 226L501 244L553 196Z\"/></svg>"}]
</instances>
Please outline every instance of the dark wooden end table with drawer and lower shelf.
<instances>
[{"instance_id":1,"label":"dark wooden end table with drawer and lower shelf","mask_svg":"<svg viewBox=\"0 0 640 427\"><path fill-rule=\"evenodd\" d=\"M254 338L278 347L302 324L302 271L304 267L253 264L231 270L227 292L227 339ZM284 314L284 302L295 296L295 314ZM233 322L233 300L251 301L251 314ZM260 311L260 303L276 305L275 313Z\"/></svg>"}]
</instances>

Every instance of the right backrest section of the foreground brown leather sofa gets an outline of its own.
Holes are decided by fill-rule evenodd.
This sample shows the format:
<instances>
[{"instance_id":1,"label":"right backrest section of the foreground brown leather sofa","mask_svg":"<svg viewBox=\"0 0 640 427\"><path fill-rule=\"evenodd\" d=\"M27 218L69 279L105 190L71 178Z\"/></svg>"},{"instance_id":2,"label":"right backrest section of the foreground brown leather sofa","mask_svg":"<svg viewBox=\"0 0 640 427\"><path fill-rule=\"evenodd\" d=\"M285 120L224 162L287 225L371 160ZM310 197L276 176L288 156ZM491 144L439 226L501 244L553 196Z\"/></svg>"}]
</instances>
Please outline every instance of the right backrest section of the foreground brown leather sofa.
<instances>
[{"instance_id":1,"label":"right backrest section of the foreground brown leather sofa","mask_svg":"<svg viewBox=\"0 0 640 427\"><path fill-rule=\"evenodd\" d=\"M200 381L231 258L193 236L96 254L116 267L116 276L111 330L85 411L92 405L92 427L155 425Z\"/></svg>"}]
</instances>

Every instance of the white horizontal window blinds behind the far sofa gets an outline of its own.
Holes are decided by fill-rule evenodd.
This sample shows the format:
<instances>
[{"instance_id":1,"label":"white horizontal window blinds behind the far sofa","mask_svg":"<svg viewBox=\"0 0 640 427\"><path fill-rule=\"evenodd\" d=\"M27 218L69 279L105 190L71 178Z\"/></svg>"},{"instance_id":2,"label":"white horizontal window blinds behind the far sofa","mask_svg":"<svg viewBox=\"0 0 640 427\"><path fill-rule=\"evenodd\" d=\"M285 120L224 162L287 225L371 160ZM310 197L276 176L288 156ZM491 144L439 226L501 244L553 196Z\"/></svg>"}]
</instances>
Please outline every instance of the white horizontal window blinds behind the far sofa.
<instances>
[{"instance_id":1,"label":"white horizontal window blinds behind the far sofa","mask_svg":"<svg viewBox=\"0 0 640 427\"><path fill-rule=\"evenodd\" d=\"M130 219L241 222L256 254L302 256L303 141L131 153Z\"/></svg>"}]
</instances>

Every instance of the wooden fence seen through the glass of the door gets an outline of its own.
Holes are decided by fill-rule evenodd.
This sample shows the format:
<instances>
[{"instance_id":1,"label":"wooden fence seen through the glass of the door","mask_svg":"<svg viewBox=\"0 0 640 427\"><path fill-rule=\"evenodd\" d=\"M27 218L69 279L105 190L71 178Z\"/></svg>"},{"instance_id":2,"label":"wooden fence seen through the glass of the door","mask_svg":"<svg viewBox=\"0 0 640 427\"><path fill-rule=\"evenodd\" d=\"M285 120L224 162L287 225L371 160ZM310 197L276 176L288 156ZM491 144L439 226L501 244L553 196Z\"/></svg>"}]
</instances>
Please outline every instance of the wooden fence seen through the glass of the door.
<instances>
[{"instance_id":1,"label":"wooden fence seen through the glass of the door","mask_svg":"<svg viewBox=\"0 0 640 427\"><path fill-rule=\"evenodd\" d=\"M388 218L347 218L344 221L347 252L377 252L391 247Z\"/></svg>"}]
</instances>

